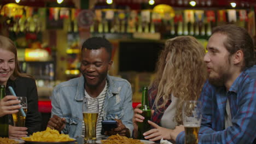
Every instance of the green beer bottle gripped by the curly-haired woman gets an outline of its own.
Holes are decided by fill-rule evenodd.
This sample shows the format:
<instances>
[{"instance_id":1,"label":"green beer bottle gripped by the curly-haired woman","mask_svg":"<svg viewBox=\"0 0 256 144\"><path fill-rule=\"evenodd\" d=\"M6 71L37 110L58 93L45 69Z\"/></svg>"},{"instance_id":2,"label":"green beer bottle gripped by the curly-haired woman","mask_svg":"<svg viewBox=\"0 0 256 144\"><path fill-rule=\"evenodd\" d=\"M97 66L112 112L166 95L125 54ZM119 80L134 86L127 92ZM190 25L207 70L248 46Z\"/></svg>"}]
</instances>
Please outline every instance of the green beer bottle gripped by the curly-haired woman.
<instances>
[{"instance_id":1,"label":"green beer bottle gripped by the curly-haired woman","mask_svg":"<svg viewBox=\"0 0 256 144\"><path fill-rule=\"evenodd\" d=\"M150 130L148 120L151 120L151 109L148 105L148 87L143 87L141 104L142 106L139 109L143 111L141 115L145 119L143 122L138 122L138 139L144 140L143 133Z\"/></svg>"}]
</instances>

